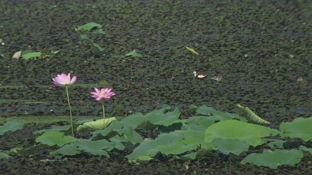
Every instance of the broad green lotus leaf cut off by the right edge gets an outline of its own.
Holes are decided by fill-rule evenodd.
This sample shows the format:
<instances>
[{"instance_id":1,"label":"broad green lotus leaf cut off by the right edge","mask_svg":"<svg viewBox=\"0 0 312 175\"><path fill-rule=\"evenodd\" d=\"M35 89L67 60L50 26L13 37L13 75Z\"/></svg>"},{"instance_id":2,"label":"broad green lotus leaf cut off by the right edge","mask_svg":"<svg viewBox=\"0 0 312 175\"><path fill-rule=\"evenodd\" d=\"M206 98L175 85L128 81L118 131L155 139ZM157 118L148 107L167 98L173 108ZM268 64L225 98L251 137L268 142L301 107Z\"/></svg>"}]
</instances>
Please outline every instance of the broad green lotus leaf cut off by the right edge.
<instances>
[{"instance_id":1,"label":"broad green lotus leaf cut off by the right edge","mask_svg":"<svg viewBox=\"0 0 312 175\"><path fill-rule=\"evenodd\" d=\"M282 131L282 137L301 138L304 141L312 139L312 117L310 118L296 118L290 123L282 122L279 125Z\"/></svg>"}]
</instances>

